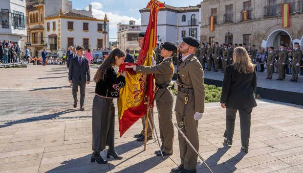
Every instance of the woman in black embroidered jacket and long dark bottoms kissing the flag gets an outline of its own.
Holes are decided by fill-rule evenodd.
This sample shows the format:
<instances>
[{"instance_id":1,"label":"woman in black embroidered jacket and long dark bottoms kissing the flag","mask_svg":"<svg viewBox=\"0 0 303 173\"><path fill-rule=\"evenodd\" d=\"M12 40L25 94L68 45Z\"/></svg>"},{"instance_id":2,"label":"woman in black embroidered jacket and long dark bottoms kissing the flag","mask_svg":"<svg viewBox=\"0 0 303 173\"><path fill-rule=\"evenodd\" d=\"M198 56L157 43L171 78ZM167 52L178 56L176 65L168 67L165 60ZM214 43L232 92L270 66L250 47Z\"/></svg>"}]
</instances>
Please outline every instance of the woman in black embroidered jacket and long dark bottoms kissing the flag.
<instances>
[{"instance_id":1,"label":"woman in black embroidered jacket and long dark bottoms kissing the flag","mask_svg":"<svg viewBox=\"0 0 303 173\"><path fill-rule=\"evenodd\" d=\"M113 156L122 159L114 149L115 107L113 99L119 97L119 90L125 86L126 72L119 77L113 66L119 67L124 62L125 53L114 49L102 63L94 76L96 82L95 98L92 105L92 150L91 162L106 164L100 151L109 147L107 158Z\"/></svg>"}]
</instances>

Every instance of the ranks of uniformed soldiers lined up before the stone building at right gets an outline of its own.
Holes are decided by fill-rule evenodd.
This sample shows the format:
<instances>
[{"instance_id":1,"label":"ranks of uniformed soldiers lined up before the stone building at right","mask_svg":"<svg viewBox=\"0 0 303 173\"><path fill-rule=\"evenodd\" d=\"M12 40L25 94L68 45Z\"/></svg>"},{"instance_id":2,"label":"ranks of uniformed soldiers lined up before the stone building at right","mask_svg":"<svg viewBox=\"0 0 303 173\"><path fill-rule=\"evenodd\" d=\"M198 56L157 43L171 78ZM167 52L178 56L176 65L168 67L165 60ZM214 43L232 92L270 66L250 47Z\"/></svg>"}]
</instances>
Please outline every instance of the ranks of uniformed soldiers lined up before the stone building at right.
<instances>
[{"instance_id":1,"label":"ranks of uniformed soldiers lined up before the stone building at right","mask_svg":"<svg viewBox=\"0 0 303 173\"><path fill-rule=\"evenodd\" d=\"M211 43L201 44L200 51L197 52L196 56L200 60L200 63L204 70L218 72L221 69L222 73L225 72L225 68L233 63L233 53L234 49L237 47L243 47L246 49L247 53L251 57L251 60L256 63L257 60L257 49L255 45L251 46L251 49L246 47L246 44L222 44L216 42L214 46ZM290 81L297 82L299 77L300 66L303 62L302 50L300 49L299 43L294 43L294 49L292 50L291 63L289 62L289 55L287 51L287 46L285 44L280 45L280 50L278 54L275 53L275 48L270 47L267 55L267 77L266 79L271 79L274 73L274 65L277 62L279 77L277 80L285 79L286 65L291 64L292 78Z\"/></svg>"}]
</instances>

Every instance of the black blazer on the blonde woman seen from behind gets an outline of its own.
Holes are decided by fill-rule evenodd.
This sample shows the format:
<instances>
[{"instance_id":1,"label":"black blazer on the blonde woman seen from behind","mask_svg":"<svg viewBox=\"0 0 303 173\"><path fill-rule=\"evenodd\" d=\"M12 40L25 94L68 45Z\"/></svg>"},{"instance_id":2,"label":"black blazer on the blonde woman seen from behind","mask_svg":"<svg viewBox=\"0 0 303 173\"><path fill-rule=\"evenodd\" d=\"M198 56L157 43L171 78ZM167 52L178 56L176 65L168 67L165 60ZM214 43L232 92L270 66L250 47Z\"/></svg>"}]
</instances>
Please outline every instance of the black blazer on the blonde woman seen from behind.
<instances>
[{"instance_id":1,"label":"black blazer on the blonde woman seen from behind","mask_svg":"<svg viewBox=\"0 0 303 173\"><path fill-rule=\"evenodd\" d=\"M251 74L238 73L235 65L226 67L223 79L221 103L225 103L226 108L246 109L256 107L254 93L257 89L256 72Z\"/></svg>"}]
</instances>

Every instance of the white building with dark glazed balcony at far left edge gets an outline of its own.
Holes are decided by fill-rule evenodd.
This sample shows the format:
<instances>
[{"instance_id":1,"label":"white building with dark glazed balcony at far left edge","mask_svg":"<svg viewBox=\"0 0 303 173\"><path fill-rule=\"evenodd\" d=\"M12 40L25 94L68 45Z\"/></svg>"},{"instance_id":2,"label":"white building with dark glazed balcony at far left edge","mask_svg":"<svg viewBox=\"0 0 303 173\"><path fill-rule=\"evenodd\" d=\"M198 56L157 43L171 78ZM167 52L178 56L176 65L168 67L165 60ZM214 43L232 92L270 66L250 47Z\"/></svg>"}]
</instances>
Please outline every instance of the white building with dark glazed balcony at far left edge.
<instances>
[{"instance_id":1,"label":"white building with dark glazed balcony at far left edge","mask_svg":"<svg viewBox=\"0 0 303 173\"><path fill-rule=\"evenodd\" d=\"M21 45L26 37L25 0L0 0L0 40Z\"/></svg>"}]
</instances>

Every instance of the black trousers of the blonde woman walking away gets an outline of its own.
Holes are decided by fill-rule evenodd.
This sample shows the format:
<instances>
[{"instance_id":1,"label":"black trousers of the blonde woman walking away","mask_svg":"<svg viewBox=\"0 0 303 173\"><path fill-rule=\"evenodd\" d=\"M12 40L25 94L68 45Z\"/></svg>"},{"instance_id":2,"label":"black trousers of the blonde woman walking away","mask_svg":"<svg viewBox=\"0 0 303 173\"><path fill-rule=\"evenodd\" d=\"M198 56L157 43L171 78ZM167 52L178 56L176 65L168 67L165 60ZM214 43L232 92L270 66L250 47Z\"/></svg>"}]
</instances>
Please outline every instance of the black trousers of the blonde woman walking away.
<instances>
[{"instance_id":1,"label":"black trousers of the blonde woman walking away","mask_svg":"<svg viewBox=\"0 0 303 173\"><path fill-rule=\"evenodd\" d=\"M248 148L250 135L250 118L253 108L247 109L226 109L226 130L224 137L229 141L233 141L236 113L239 110L240 128L241 128L241 144Z\"/></svg>"}]
</instances>

